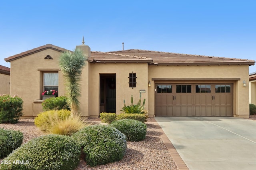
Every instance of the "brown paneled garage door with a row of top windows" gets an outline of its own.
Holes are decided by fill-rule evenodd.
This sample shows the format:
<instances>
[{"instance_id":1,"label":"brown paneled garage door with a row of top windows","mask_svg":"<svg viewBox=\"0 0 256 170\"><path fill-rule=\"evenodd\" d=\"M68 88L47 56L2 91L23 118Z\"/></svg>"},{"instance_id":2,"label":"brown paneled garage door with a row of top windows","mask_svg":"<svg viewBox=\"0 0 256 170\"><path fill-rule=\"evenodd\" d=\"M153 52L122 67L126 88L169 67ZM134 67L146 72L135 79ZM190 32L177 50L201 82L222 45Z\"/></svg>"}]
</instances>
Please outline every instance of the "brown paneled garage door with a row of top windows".
<instances>
[{"instance_id":1,"label":"brown paneled garage door with a row of top windows","mask_svg":"<svg viewBox=\"0 0 256 170\"><path fill-rule=\"evenodd\" d=\"M156 84L156 116L232 116L232 84Z\"/></svg>"}]
</instances>

